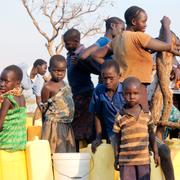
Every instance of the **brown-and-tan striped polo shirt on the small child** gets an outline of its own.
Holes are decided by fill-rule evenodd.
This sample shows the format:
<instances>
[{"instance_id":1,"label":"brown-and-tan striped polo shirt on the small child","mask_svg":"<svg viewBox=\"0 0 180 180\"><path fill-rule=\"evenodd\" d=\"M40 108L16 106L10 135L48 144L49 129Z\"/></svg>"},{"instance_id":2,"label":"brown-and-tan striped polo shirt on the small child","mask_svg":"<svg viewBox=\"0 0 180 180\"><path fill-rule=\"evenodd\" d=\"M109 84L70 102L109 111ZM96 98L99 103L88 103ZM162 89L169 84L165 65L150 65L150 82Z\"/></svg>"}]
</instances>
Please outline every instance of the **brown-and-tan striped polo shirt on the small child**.
<instances>
[{"instance_id":1,"label":"brown-and-tan striped polo shirt on the small child","mask_svg":"<svg viewBox=\"0 0 180 180\"><path fill-rule=\"evenodd\" d=\"M148 126L152 124L153 121L149 114L143 110L141 110L137 119L127 113L116 117L113 131L121 133L120 165L144 165L150 163Z\"/></svg>"}]
</instances>

